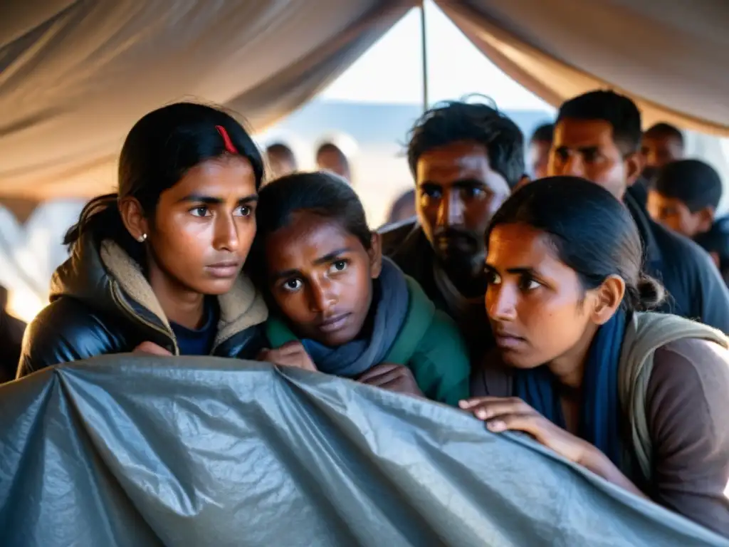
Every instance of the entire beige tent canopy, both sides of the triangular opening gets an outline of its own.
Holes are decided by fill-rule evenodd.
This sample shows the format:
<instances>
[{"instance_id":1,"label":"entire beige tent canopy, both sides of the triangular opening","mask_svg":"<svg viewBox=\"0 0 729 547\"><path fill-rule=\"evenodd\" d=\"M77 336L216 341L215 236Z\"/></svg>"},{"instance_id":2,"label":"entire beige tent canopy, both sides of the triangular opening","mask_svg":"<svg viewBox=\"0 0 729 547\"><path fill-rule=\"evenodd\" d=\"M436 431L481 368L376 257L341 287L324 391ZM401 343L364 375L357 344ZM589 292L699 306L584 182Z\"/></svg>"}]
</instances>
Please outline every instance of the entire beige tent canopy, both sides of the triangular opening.
<instances>
[{"instance_id":1,"label":"entire beige tent canopy, both sides of the triangular opening","mask_svg":"<svg viewBox=\"0 0 729 547\"><path fill-rule=\"evenodd\" d=\"M492 61L550 104L609 86L634 96L647 121L729 134L728 1L436 1ZM130 126L182 98L225 104L265 128L416 4L6 1L0 195L107 190Z\"/></svg>"}]
</instances>

